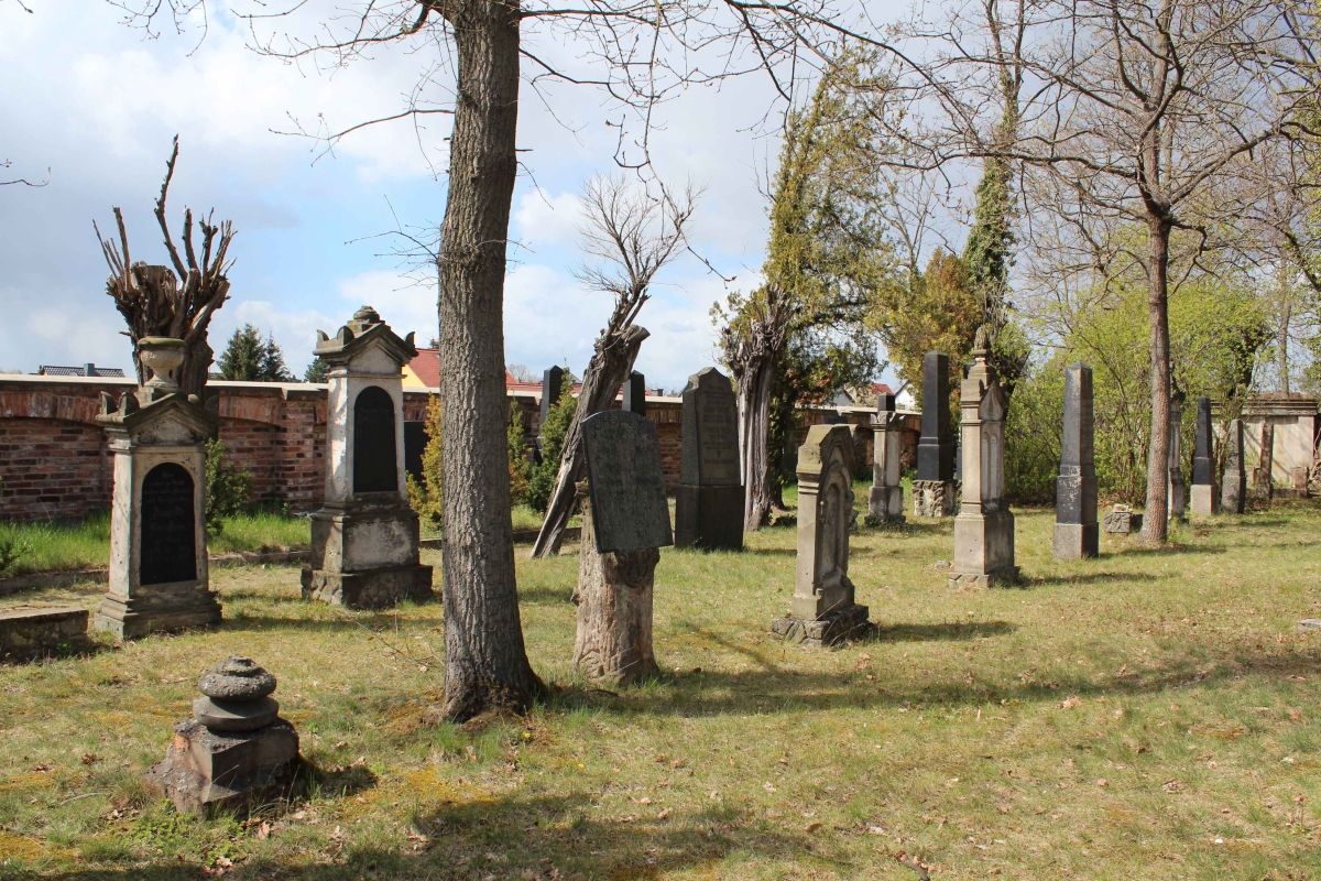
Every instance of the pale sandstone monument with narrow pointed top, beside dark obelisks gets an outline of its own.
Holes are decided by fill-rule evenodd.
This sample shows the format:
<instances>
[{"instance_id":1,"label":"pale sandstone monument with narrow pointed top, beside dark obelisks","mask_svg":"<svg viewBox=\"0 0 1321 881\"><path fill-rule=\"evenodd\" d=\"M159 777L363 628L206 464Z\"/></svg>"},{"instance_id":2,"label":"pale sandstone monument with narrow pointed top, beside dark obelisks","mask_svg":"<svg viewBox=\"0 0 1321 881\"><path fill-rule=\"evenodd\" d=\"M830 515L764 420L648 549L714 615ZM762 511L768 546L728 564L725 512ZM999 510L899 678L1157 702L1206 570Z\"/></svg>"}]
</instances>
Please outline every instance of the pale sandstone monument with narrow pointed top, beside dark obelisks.
<instances>
[{"instance_id":1,"label":"pale sandstone monument with narrow pointed top, beside dark obelisks","mask_svg":"<svg viewBox=\"0 0 1321 881\"><path fill-rule=\"evenodd\" d=\"M985 329L979 329L972 365L959 386L963 412L963 499L954 518L951 588L1013 584L1013 514L1004 498L1004 391L987 362Z\"/></svg>"}]
</instances>

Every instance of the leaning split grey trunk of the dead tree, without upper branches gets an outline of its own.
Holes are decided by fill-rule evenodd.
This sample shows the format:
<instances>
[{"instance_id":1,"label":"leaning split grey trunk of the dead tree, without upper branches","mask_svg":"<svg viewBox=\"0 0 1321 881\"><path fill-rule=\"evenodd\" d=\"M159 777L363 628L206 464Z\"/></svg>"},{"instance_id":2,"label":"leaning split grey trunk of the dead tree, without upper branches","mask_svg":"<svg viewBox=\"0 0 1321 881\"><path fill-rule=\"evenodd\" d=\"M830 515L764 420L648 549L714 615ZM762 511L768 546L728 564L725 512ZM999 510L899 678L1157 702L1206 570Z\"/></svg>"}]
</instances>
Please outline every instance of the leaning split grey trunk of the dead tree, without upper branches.
<instances>
[{"instance_id":1,"label":"leaning split grey trunk of the dead tree, without upper branches","mask_svg":"<svg viewBox=\"0 0 1321 881\"><path fill-rule=\"evenodd\" d=\"M576 486L583 479L587 468L583 452L583 420L592 413L600 413L614 400L620 386L633 370L638 359L642 341L650 335L646 328L633 325L624 332L606 332L605 338L596 345L592 362L583 371L583 391L573 409L573 419L564 432L564 445L560 448L560 470L555 477L555 489L546 503L546 519L532 543L531 557L547 557L560 552L564 530L573 515Z\"/></svg>"}]
</instances>

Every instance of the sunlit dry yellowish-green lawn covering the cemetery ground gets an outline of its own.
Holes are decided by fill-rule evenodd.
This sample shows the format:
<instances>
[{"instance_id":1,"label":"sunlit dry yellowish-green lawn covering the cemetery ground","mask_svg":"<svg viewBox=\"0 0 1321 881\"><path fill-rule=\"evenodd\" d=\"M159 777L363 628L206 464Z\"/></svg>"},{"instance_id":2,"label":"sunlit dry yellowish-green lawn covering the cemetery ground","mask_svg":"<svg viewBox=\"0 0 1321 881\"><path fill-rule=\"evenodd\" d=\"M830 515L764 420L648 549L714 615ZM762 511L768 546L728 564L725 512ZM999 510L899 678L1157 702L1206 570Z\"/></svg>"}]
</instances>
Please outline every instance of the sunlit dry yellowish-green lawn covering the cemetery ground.
<instances>
[{"instance_id":1,"label":"sunlit dry yellowish-green lawn covering the cemetery ground","mask_svg":"<svg viewBox=\"0 0 1321 881\"><path fill-rule=\"evenodd\" d=\"M470 728L427 720L439 604L346 613L299 600L293 567L215 571L215 631L0 668L0 877L1321 877L1321 634L1296 629L1321 617L1321 507L1067 564L1052 526L1018 515L1024 588L964 593L937 565L948 520L863 530L851 573L881 627L840 651L768 633L793 530L667 549L666 672L618 693L569 667L576 557L520 547L556 696ZM230 652L279 678L310 795L181 819L140 779Z\"/></svg>"}]
</instances>

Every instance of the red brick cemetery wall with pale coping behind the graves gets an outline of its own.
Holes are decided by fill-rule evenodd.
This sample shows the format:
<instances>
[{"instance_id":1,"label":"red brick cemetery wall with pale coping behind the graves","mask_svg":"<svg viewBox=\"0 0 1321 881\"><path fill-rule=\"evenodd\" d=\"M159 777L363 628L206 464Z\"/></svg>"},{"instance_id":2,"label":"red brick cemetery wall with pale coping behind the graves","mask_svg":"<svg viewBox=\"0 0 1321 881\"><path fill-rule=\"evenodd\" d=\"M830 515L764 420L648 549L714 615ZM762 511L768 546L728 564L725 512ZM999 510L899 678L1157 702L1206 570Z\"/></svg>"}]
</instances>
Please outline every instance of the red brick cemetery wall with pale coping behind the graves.
<instances>
[{"instance_id":1,"label":"red brick cemetery wall with pale coping behind the graves","mask_svg":"<svg viewBox=\"0 0 1321 881\"><path fill-rule=\"evenodd\" d=\"M106 435L96 424L100 394L118 398L132 379L82 376L0 376L0 519L77 519L107 510L112 465ZM213 380L218 396L219 439L231 460L252 474L254 499L306 511L321 503L325 481L326 387L317 383L244 383ZM406 423L421 423L424 390L404 391ZM539 431L539 395L515 391L528 442ZM657 427L666 489L679 483L680 399L647 399ZM816 423L841 419L868 425L871 411L804 411L799 435ZM905 464L917 446L918 423L909 416ZM802 437L799 437L801 442ZM869 468L872 432L855 432L860 469Z\"/></svg>"}]
</instances>

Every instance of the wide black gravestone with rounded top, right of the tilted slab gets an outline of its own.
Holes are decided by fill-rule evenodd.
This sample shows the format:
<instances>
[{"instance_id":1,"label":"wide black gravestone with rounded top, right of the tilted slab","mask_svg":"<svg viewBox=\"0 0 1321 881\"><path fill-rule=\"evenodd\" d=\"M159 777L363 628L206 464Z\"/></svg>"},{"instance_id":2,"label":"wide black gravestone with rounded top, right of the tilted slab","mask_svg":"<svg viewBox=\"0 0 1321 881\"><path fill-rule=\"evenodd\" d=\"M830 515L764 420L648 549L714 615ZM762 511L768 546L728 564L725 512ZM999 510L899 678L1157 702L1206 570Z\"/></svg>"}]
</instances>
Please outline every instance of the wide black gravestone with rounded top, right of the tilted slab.
<instances>
[{"instance_id":1,"label":"wide black gravestone with rounded top, right of the tilted slab","mask_svg":"<svg viewBox=\"0 0 1321 881\"><path fill-rule=\"evenodd\" d=\"M683 458L675 493L675 546L741 551L742 509L734 392L724 374L707 367L690 376L683 390Z\"/></svg>"}]
</instances>

